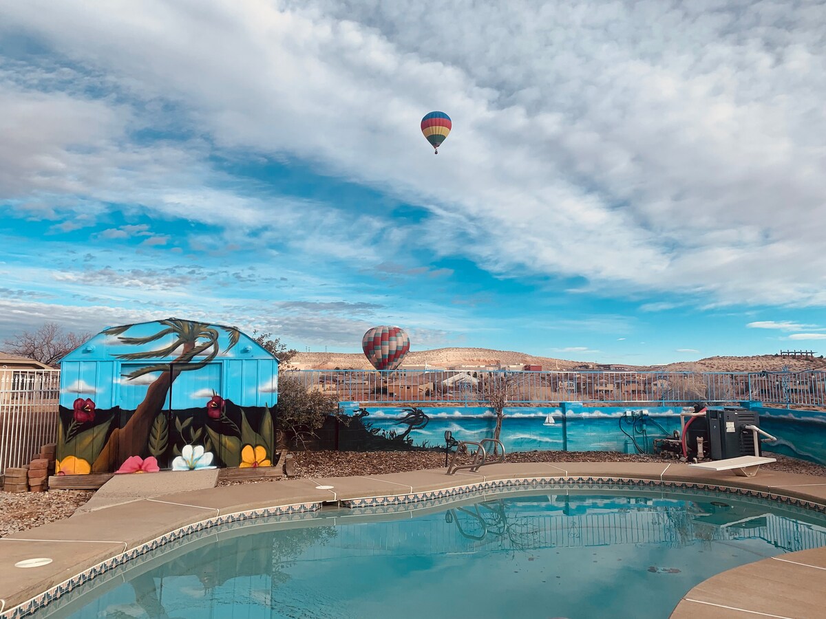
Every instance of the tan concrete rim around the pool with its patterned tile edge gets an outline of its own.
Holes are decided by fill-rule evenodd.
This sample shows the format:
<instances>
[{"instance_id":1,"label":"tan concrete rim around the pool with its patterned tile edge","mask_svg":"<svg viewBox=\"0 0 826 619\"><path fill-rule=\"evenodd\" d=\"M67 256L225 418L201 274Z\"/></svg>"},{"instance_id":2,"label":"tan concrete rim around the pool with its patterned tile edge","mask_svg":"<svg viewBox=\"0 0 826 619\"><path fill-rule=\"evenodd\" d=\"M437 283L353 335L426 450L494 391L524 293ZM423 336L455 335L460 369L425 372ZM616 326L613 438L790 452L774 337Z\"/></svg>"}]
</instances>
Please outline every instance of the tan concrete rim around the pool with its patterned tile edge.
<instances>
[{"instance_id":1,"label":"tan concrete rim around the pool with its patterned tile edge","mask_svg":"<svg viewBox=\"0 0 826 619\"><path fill-rule=\"evenodd\" d=\"M26 617L99 574L211 527L307 513L325 503L360 510L381 509L455 500L480 492L518 490L531 484L711 490L826 513L824 477L762 470L756 477L747 478L727 472L709 474L673 462L518 463L486 466L475 474L445 475L445 469L435 469L200 489L78 513L0 538L0 618ZM13 551L2 552L4 546ZM36 557L44 549L57 557L55 565L14 567L21 556ZM799 583L805 578L826 583L826 548L758 560L717 574L686 593L672 617L721 617L722 612L728 613L725 617L817 617L813 609L822 611L826 604L826 593L820 593L822 586L800 590L794 597L776 594L778 584ZM755 579L757 586L742 585ZM767 586L759 586L764 581ZM16 590L3 591L8 584Z\"/></svg>"}]
</instances>

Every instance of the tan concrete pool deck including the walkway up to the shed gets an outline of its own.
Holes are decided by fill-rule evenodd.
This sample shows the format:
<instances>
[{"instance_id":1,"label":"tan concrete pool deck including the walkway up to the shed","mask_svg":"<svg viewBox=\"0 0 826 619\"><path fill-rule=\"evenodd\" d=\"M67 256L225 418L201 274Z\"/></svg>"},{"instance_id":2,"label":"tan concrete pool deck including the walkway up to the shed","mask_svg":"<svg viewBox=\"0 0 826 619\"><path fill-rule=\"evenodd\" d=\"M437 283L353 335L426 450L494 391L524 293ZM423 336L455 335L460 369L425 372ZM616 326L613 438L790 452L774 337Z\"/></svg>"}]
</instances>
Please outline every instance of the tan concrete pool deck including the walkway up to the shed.
<instances>
[{"instance_id":1,"label":"tan concrete pool deck including the walkway up to the shed","mask_svg":"<svg viewBox=\"0 0 826 619\"><path fill-rule=\"evenodd\" d=\"M174 480L172 475L178 475ZM302 478L224 487L182 490L180 475L130 475L135 487L150 496L131 494L126 480L111 503L98 501L74 516L29 531L0 538L0 617L21 617L14 608L73 578L102 561L135 549L194 523L228 514L309 504L354 502L388 497L401 503L415 494L451 494L481 484L491 488L506 480L548 480L569 483L653 482L663 489L710 486L709 489L745 489L754 493L799 499L826 505L826 478L761 470L755 477L729 471L715 473L688 465L633 462L554 462L487 465L478 473L445 475L445 469L388 475ZM169 476L169 478L168 478ZM124 476L127 477L127 476ZM203 476L202 477L206 477ZM140 479L138 479L140 478ZM192 478L194 482L195 479ZM656 487L655 485L655 487ZM324 488L331 486L331 488ZM681 485L677 485L679 489ZM514 488L518 489L518 488ZM444 492L443 492L444 491ZM413 499L415 500L415 499ZM91 503L91 502L90 502ZM251 521L254 522L254 521ZM47 557L48 565L15 567L18 561ZM686 593L674 619L704 617L824 617L826 608L826 547L758 560L717 574Z\"/></svg>"}]
</instances>

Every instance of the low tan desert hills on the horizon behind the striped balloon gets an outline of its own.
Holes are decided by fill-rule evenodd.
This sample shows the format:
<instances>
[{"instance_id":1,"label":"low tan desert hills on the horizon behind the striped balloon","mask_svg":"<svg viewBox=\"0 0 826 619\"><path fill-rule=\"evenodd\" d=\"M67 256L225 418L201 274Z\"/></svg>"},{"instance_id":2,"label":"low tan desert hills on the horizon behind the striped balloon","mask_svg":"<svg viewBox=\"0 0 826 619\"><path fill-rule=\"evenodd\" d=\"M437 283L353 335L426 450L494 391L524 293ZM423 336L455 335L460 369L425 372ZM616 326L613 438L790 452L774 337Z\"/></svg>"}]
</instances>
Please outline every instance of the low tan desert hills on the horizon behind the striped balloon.
<instances>
[{"instance_id":1,"label":"low tan desert hills on the horizon behind the striped balloon","mask_svg":"<svg viewBox=\"0 0 826 619\"><path fill-rule=\"evenodd\" d=\"M491 348L436 348L434 350L407 353L404 366L453 368L458 366L542 366L545 371L567 371L589 366L600 369L596 363L571 361L554 357L536 357L525 352L501 351ZM299 352L292 366L300 370L372 370L373 366L360 352ZM699 361L681 361L665 366L629 366L616 364L616 370L660 371L780 371L784 366L790 371L826 370L826 361L820 358L804 359L757 355L753 357L706 357Z\"/></svg>"}]
</instances>

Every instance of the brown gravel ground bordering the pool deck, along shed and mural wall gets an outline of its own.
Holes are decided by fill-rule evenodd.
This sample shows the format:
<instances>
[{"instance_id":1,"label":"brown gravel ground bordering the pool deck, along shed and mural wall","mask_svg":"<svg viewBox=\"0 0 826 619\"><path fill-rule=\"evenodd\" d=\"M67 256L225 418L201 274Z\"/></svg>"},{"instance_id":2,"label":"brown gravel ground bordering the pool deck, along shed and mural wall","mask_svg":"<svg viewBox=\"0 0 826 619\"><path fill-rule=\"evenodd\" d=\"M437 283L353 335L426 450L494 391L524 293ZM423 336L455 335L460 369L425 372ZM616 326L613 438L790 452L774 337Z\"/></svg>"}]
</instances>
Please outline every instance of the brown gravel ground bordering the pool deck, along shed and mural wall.
<instances>
[{"instance_id":1,"label":"brown gravel ground bordering the pool deck, along shed and mural wall","mask_svg":"<svg viewBox=\"0 0 826 619\"><path fill-rule=\"evenodd\" d=\"M826 466L773 456L765 469L826 477ZM407 470L438 469L444 453L435 451L299 451L293 454L297 477L381 475ZM511 453L508 462L662 462L659 456L620 454L611 451L528 451ZM220 485L260 482L221 482ZM12 494L0 492L0 537L69 517L93 495L91 490L50 490Z\"/></svg>"}]
</instances>

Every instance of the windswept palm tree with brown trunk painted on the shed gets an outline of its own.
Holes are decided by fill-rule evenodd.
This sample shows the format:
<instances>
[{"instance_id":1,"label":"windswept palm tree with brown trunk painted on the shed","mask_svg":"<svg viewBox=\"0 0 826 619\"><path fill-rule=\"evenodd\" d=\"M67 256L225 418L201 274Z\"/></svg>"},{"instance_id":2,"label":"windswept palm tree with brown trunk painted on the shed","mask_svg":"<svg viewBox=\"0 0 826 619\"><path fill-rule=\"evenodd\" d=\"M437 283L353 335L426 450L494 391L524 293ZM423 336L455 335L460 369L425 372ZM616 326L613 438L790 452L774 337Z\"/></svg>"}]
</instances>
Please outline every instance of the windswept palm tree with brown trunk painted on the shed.
<instances>
[{"instance_id":1,"label":"windswept palm tree with brown trunk painted on the shed","mask_svg":"<svg viewBox=\"0 0 826 619\"><path fill-rule=\"evenodd\" d=\"M126 333L126 331L133 326L131 324L123 327L112 327L103 332L107 335L117 336L122 343L144 347L146 344L157 342L159 339L166 338L167 336L171 335L173 337L173 342L167 347L158 348L157 350L142 350L140 352L127 352L126 354L116 355L118 359L124 361L163 359L178 350L181 352L178 354L178 357L169 363L155 363L150 366L140 367L124 375L126 380L132 380L138 376L160 372L160 376L158 376L149 386L149 389L146 390L146 396L143 402L138 404L138 408L135 409L135 414L132 415L123 428L116 428L112 431L112 434L107 439L106 445L103 446L100 455L97 456L94 461L92 466L93 472L102 473L116 470L117 465L121 464L120 461L126 460L129 456L140 455L145 449L154 418L164 409L164 402L166 401L169 387L172 385L173 380L175 380L182 371L200 370L215 359L218 352L220 352L218 338L221 333L209 324L174 318L160 320L159 324L164 328L158 333L154 333L154 335L145 338L122 337L123 333ZM238 343L240 331L235 327L221 327L221 329L225 331L229 337L230 345L226 347L226 350L230 350L230 348ZM198 356L203 357L196 361L195 359Z\"/></svg>"}]
</instances>

